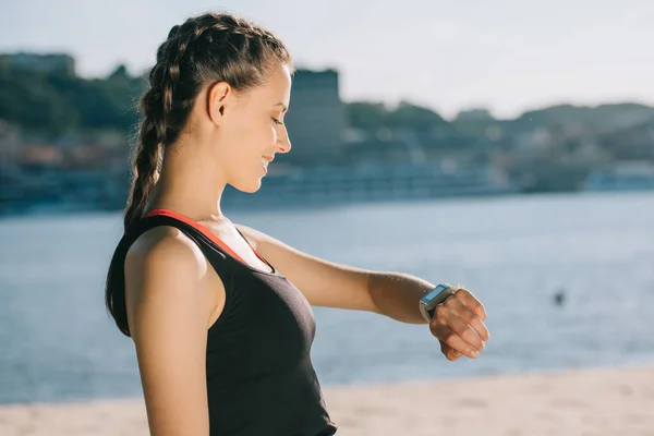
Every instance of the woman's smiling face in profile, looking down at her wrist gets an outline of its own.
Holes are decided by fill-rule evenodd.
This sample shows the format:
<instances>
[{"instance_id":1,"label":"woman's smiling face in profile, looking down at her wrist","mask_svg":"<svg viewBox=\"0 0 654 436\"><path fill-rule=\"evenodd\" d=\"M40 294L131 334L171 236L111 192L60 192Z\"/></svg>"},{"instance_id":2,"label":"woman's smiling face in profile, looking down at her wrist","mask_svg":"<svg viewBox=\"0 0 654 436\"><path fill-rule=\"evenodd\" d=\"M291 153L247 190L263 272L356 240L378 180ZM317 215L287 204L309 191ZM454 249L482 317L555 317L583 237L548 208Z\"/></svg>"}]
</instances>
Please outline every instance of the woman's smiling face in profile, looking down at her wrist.
<instances>
[{"instance_id":1,"label":"woman's smiling face in profile, looking down at her wrist","mask_svg":"<svg viewBox=\"0 0 654 436\"><path fill-rule=\"evenodd\" d=\"M214 110L218 110L215 116L220 117L217 166L228 184L252 193L261 187L275 155L291 149L283 125L290 102L291 74L287 65L278 64L266 84L242 95L233 89L221 93L218 89L216 96L210 97Z\"/></svg>"}]
</instances>

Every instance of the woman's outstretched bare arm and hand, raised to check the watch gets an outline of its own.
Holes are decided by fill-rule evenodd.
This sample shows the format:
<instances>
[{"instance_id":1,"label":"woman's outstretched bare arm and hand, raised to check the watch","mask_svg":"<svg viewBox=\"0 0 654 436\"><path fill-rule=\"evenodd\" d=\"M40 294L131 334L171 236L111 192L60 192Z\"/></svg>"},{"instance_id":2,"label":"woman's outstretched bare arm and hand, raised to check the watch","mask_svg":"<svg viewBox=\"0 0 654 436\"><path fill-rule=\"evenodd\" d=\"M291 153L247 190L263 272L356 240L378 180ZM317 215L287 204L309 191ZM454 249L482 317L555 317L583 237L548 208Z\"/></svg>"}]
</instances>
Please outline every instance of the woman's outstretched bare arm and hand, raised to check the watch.
<instances>
[{"instance_id":1,"label":"woman's outstretched bare arm and hand, raised to check the watch","mask_svg":"<svg viewBox=\"0 0 654 436\"><path fill-rule=\"evenodd\" d=\"M400 272L379 272L328 262L293 249L277 239L237 226L252 247L300 289L315 306L374 312L409 324L427 324L419 310L420 299L434 284ZM429 323L450 360L476 358L488 340L486 312L470 291L458 290L436 307Z\"/></svg>"}]
</instances>

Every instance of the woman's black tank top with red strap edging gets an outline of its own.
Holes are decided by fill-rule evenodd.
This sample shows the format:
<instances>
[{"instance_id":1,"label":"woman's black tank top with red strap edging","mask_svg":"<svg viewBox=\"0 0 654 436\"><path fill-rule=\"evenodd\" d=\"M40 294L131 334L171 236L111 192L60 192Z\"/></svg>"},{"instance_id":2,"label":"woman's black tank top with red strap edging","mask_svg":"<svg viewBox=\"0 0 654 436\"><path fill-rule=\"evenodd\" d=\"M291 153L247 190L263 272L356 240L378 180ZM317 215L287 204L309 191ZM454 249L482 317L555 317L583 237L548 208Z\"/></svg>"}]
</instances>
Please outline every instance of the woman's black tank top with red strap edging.
<instances>
[{"instance_id":1,"label":"woman's black tank top with red strap edging","mask_svg":"<svg viewBox=\"0 0 654 436\"><path fill-rule=\"evenodd\" d=\"M334 435L337 427L310 355L315 318L304 295L263 257L269 272L247 265L206 227L168 209L149 213L123 242L130 245L157 226L184 232L225 283L225 308L207 332L210 435Z\"/></svg>"}]
</instances>

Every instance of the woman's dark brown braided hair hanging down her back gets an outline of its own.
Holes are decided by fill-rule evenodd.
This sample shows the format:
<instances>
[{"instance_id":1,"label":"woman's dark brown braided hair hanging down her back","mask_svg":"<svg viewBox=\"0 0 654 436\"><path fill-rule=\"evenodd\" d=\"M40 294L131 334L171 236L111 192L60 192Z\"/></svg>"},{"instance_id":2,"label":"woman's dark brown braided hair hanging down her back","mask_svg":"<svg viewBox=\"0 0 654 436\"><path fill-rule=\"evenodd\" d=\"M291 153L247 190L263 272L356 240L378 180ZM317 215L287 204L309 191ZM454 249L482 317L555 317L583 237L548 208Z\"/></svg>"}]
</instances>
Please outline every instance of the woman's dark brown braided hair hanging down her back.
<instances>
[{"instance_id":1,"label":"woman's dark brown braided hair hanging down her back","mask_svg":"<svg viewBox=\"0 0 654 436\"><path fill-rule=\"evenodd\" d=\"M205 13L170 29L157 49L148 87L138 105L141 122L132 155L125 233L143 217L148 194L159 178L165 147L184 129L199 90L210 83L227 82L237 92L245 92L263 85L276 63L291 66L284 45L270 32L237 15ZM125 254L119 245L109 266L105 300L119 329L129 336Z\"/></svg>"}]
</instances>

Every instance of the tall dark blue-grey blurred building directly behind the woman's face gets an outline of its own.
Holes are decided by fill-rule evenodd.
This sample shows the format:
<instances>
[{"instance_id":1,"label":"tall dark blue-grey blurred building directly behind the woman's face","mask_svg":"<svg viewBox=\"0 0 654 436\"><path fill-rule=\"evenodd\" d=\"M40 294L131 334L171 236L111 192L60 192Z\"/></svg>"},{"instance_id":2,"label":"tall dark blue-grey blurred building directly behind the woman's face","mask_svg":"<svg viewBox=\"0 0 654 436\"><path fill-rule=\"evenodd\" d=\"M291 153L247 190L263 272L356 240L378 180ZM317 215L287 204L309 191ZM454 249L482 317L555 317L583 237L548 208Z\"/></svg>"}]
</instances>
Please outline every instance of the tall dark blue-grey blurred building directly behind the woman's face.
<instances>
[{"instance_id":1,"label":"tall dark blue-grey blurred building directly behind the woman's face","mask_svg":"<svg viewBox=\"0 0 654 436\"><path fill-rule=\"evenodd\" d=\"M342 109L337 71L299 69L284 117L293 150L280 160L300 165L334 160L342 147Z\"/></svg>"}]
</instances>

